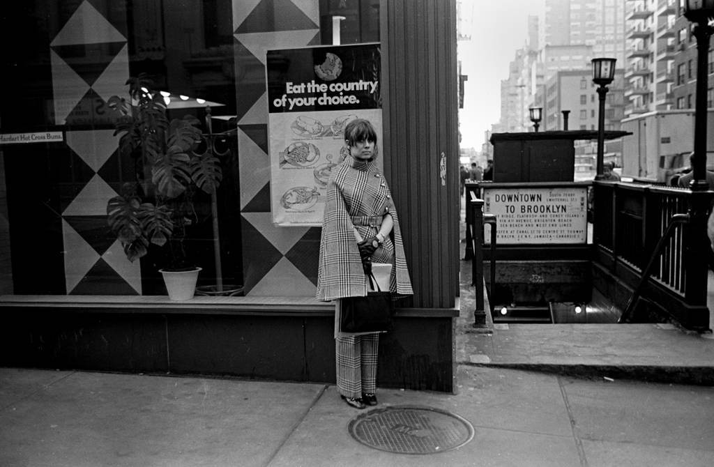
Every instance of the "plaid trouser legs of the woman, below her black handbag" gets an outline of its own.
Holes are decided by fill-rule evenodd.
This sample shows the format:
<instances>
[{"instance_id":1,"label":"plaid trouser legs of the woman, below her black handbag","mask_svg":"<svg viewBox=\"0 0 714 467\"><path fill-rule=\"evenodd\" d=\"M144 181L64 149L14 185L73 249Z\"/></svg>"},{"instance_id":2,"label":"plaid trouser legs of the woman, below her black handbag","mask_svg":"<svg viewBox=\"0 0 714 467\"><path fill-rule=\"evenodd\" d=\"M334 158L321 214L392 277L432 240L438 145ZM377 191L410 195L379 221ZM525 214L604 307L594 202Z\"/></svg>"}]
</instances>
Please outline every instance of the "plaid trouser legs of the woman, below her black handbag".
<instances>
[{"instance_id":1,"label":"plaid trouser legs of the woman, below her black handbag","mask_svg":"<svg viewBox=\"0 0 714 467\"><path fill-rule=\"evenodd\" d=\"M379 334L335 338L337 389L345 397L374 393L377 382Z\"/></svg>"}]
</instances>

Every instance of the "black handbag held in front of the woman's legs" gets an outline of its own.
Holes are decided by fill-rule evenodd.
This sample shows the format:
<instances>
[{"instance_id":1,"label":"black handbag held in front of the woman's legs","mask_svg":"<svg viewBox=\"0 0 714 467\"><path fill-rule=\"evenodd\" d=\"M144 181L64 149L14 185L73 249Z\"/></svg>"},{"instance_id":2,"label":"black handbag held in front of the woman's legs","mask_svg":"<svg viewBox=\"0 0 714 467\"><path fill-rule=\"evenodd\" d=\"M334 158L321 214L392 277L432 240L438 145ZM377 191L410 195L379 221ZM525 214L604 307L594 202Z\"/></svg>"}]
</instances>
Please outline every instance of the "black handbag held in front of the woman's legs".
<instances>
[{"instance_id":1,"label":"black handbag held in front of the woman's legs","mask_svg":"<svg viewBox=\"0 0 714 467\"><path fill-rule=\"evenodd\" d=\"M372 273L368 278L372 288L374 281L377 291L368 292L366 296L342 298L340 331L363 333L391 330L394 313L392 294L382 291Z\"/></svg>"}]
</instances>

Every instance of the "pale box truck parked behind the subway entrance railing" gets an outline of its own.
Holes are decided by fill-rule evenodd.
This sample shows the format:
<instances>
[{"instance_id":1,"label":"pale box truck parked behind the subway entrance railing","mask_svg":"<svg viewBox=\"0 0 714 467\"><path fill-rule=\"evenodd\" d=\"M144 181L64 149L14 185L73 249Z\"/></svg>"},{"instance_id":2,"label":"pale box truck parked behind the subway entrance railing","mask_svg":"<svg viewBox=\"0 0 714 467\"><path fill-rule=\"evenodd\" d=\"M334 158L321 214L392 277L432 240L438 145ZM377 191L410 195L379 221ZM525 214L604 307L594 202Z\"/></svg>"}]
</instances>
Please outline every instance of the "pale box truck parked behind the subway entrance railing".
<instances>
[{"instance_id":1,"label":"pale box truck parked behind the subway entrance railing","mask_svg":"<svg viewBox=\"0 0 714 467\"><path fill-rule=\"evenodd\" d=\"M694 149L694 111L658 110L622 121L622 176L667 184L689 170ZM707 169L714 170L714 110L707 118Z\"/></svg>"}]
</instances>

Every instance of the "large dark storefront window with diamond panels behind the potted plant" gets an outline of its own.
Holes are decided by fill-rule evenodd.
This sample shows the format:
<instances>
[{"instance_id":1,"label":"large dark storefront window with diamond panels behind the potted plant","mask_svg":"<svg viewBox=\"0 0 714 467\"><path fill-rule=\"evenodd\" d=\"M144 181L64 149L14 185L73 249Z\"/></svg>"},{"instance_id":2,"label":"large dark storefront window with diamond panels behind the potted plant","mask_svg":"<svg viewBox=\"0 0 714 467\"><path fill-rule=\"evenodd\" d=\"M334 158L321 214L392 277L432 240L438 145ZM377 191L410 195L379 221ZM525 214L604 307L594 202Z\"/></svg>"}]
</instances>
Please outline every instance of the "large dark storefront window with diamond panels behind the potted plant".
<instances>
[{"instance_id":1,"label":"large dark storefront window with diamond panels behind the potted plant","mask_svg":"<svg viewBox=\"0 0 714 467\"><path fill-rule=\"evenodd\" d=\"M270 220L266 51L332 44L333 16L344 17L342 44L377 42L378 1L38 0L2 9L0 34L12 46L2 59L1 293L164 295L159 269L184 252L206 289L314 293L319 228ZM120 151L116 124L131 114L110 103L129 104L126 83L139 76L167 121L196 119L201 143L176 156L190 165L149 164L171 144ZM167 130L149 117L142 131ZM201 172L196 155L208 153L221 174L214 195L188 184ZM110 200L134 189L159 206L158 184L187 187L167 208L181 212L169 216L173 235L164 246L123 245L128 231L111 230Z\"/></svg>"}]
</instances>

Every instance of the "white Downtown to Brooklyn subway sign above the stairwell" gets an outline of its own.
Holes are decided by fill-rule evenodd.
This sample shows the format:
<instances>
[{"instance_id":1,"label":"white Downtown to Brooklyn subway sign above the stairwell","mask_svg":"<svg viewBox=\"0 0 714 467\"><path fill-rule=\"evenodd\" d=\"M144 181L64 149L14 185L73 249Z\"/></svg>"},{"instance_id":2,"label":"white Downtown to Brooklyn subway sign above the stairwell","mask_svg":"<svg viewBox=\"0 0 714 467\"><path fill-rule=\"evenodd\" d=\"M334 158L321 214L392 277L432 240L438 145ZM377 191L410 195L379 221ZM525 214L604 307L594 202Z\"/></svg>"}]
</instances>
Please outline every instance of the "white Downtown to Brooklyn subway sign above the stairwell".
<instances>
[{"instance_id":1,"label":"white Downtown to Brooklyn subway sign above the stairwell","mask_svg":"<svg viewBox=\"0 0 714 467\"><path fill-rule=\"evenodd\" d=\"M588 240L588 188L483 186L483 212L496 214L498 244L582 244ZM491 226L484 226L491 243Z\"/></svg>"}]
</instances>

